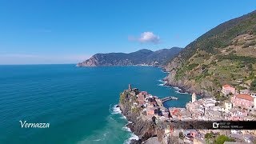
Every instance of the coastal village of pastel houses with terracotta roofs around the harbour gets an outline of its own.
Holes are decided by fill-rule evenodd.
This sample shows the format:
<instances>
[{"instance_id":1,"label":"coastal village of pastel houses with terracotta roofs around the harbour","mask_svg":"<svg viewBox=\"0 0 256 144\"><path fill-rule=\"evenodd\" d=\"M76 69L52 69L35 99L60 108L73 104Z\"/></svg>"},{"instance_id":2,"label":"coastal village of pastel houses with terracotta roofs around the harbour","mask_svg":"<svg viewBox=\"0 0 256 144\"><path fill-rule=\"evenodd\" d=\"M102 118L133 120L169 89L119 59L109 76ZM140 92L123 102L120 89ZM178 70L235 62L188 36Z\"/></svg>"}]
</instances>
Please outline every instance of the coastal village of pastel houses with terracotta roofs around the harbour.
<instances>
[{"instance_id":1,"label":"coastal village of pastel houses with terracotta roofs around the harbour","mask_svg":"<svg viewBox=\"0 0 256 144\"><path fill-rule=\"evenodd\" d=\"M191 101L186 103L186 107L169 108L163 106L166 98L158 98L146 91L139 91L131 85L121 95L130 95L131 110L139 113L140 118L156 124L167 123L163 128L165 138L159 143L170 143L167 139L171 137L178 137L178 143L213 143L211 141L222 134L230 138L231 142L224 142L226 144L254 143L256 130L184 129L172 126L174 122L186 121L256 121L256 93L254 91L236 90L234 86L226 84L222 86L220 93L226 97L225 101L218 101L215 98L197 99L197 95L192 94ZM169 97L169 99L177 100L174 97Z\"/></svg>"}]
</instances>

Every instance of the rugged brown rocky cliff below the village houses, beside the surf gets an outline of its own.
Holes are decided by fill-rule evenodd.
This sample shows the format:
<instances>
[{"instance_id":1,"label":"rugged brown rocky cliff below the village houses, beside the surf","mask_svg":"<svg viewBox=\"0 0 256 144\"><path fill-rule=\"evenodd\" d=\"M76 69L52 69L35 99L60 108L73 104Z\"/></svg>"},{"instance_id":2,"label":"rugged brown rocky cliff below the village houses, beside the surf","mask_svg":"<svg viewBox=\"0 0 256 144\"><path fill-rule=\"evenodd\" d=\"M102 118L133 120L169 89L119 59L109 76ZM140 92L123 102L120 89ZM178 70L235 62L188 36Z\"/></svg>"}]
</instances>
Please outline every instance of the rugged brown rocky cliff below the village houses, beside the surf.
<instances>
[{"instance_id":1,"label":"rugged brown rocky cliff below the village houses, beside the surf","mask_svg":"<svg viewBox=\"0 0 256 144\"><path fill-rule=\"evenodd\" d=\"M146 119L141 114L141 110L134 108L132 103L136 101L134 96L126 92L126 90L120 94L120 102L118 106L122 111L122 114L126 116L126 119L131 123L127 126L130 130L138 135L139 140L133 140L131 143L146 142L149 138L156 137L160 143L168 143L168 138L165 137L166 122L154 122L153 119ZM154 141L156 140L154 138ZM176 138L177 139L177 138Z\"/></svg>"}]
</instances>

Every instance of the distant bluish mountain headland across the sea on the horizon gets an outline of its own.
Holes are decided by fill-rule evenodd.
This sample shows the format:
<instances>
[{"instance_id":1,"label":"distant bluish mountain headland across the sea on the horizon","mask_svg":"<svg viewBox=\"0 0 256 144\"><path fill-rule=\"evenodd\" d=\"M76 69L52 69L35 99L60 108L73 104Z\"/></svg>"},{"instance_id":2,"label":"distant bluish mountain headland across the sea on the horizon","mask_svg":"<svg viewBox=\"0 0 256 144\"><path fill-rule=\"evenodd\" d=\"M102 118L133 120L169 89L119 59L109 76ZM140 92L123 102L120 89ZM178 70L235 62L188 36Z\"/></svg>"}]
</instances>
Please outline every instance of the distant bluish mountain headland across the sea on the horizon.
<instances>
[{"instance_id":1,"label":"distant bluish mountain headland across the sea on the horizon","mask_svg":"<svg viewBox=\"0 0 256 144\"><path fill-rule=\"evenodd\" d=\"M150 65L162 66L167 60L178 54L182 48L172 47L151 51L147 49L138 50L129 54L108 53L94 54L84 62L79 62L77 66L132 66L132 65Z\"/></svg>"}]
</instances>

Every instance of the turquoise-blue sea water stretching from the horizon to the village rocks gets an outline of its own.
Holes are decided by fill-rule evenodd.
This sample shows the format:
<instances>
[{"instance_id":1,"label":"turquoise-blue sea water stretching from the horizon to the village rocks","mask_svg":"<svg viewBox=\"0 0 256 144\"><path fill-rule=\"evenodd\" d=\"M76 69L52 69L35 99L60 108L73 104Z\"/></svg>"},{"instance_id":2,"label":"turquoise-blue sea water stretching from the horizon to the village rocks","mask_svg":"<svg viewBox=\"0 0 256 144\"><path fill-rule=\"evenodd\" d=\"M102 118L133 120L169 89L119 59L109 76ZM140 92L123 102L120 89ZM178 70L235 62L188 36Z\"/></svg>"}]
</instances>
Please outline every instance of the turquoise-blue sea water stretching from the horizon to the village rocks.
<instances>
[{"instance_id":1,"label":"turquoise-blue sea water stretching from the horizon to the village rocks","mask_svg":"<svg viewBox=\"0 0 256 144\"><path fill-rule=\"evenodd\" d=\"M128 143L137 138L114 108L131 83L165 106L182 106L190 94L162 86L166 76L150 66L0 66L0 143ZM47 122L50 128L22 128L19 121Z\"/></svg>"}]
</instances>

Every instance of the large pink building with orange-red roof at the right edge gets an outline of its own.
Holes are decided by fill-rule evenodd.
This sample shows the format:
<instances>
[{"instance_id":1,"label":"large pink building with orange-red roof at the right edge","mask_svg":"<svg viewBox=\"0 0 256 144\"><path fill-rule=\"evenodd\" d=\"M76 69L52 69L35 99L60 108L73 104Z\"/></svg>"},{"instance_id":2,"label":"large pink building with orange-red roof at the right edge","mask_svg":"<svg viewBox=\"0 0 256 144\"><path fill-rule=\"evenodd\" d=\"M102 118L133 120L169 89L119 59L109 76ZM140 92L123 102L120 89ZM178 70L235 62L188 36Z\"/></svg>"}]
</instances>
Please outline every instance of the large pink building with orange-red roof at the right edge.
<instances>
[{"instance_id":1,"label":"large pink building with orange-red roof at the right edge","mask_svg":"<svg viewBox=\"0 0 256 144\"><path fill-rule=\"evenodd\" d=\"M254 108L254 98L250 94L236 94L231 98L233 106L240 106L241 108Z\"/></svg>"}]
</instances>

